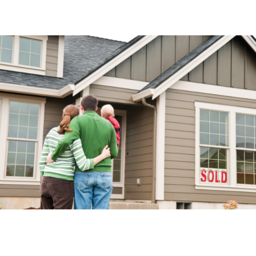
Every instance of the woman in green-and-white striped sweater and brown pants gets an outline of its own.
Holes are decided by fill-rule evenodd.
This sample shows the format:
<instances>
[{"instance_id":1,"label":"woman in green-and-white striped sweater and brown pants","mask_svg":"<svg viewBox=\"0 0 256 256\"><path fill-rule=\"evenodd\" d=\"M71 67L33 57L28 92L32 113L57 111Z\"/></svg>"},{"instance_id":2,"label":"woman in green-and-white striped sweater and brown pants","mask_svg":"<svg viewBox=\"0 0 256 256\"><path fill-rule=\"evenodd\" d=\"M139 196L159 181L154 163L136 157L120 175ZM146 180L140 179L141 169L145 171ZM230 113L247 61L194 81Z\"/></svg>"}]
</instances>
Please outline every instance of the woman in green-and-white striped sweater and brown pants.
<instances>
[{"instance_id":1,"label":"woman in green-and-white striped sweater and brown pants","mask_svg":"<svg viewBox=\"0 0 256 256\"><path fill-rule=\"evenodd\" d=\"M80 170L93 169L94 165L103 159L110 157L110 149L102 151L102 154L94 159L87 159L84 155L81 140L74 140L65 153L55 162L46 165L49 153L55 150L56 145L69 129L72 118L79 115L79 109L75 105L68 105L63 110L63 120L58 127L53 128L46 136L39 167L42 181L40 186L41 209L72 209L74 198L74 165Z\"/></svg>"}]
</instances>

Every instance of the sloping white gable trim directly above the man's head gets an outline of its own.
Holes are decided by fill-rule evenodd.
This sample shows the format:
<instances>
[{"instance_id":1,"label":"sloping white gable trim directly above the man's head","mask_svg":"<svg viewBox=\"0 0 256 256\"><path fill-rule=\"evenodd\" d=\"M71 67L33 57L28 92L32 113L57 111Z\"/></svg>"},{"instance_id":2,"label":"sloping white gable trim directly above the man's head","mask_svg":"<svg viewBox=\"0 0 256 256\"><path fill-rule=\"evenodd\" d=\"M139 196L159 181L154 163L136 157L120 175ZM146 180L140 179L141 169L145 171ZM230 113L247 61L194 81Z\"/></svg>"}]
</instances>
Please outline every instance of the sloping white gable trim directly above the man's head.
<instances>
[{"instance_id":1,"label":"sloping white gable trim directly above the man's head","mask_svg":"<svg viewBox=\"0 0 256 256\"><path fill-rule=\"evenodd\" d=\"M78 94L83 89L90 86L90 84L94 83L97 79L99 79L104 74L108 73L110 70L115 68L118 64L120 64L125 59L129 58L135 52L139 51L142 47L147 45L149 42L154 40L158 35L146 35L137 41L134 45L123 51L122 53L118 54L115 58L110 60L108 63L103 65L101 68L93 72L87 78L84 78L82 81L76 84L73 96Z\"/></svg>"}]
</instances>

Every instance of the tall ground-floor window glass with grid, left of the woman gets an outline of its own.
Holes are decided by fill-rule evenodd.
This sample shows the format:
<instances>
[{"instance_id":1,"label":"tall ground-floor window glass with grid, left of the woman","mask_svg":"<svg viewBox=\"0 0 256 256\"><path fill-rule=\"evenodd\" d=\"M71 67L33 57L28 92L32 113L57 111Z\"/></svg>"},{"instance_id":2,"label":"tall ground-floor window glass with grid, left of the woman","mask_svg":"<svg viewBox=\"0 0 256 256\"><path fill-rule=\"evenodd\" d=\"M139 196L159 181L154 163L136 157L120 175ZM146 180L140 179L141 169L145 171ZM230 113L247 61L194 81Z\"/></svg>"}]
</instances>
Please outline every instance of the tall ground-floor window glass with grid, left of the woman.
<instances>
[{"instance_id":1,"label":"tall ground-floor window glass with grid, left of the woman","mask_svg":"<svg viewBox=\"0 0 256 256\"><path fill-rule=\"evenodd\" d=\"M39 104L10 101L6 176L33 177ZM18 138L20 140L13 140Z\"/></svg>"}]
</instances>

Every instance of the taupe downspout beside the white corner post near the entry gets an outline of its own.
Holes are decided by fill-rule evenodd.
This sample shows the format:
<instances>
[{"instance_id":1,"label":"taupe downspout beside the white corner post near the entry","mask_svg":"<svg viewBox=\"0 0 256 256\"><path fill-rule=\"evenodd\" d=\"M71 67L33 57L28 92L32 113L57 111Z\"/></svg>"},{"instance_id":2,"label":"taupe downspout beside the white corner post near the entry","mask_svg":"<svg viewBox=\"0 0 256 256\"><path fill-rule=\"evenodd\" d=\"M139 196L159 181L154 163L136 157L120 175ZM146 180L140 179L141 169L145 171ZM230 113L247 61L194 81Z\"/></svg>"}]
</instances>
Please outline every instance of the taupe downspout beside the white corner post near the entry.
<instances>
[{"instance_id":1,"label":"taupe downspout beside the white corner post near the entry","mask_svg":"<svg viewBox=\"0 0 256 256\"><path fill-rule=\"evenodd\" d=\"M145 98L142 98L144 106L154 109L154 138L153 138L153 188L152 188L152 203L156 203L156 174L157 174L157 108L146 102Z\"/></svg>"}]
</instances>

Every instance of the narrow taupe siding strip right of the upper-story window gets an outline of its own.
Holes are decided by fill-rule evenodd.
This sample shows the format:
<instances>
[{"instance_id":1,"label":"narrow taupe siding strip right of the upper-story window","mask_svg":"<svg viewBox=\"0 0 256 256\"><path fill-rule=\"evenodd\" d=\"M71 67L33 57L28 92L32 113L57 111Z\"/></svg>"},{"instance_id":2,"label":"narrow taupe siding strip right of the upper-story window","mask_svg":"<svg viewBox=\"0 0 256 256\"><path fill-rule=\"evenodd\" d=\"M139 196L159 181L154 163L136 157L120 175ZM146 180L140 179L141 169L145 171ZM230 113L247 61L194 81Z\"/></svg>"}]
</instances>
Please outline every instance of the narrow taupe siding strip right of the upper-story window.
<instances>
[{"instance_id":1,"label":"narrow taupe siding strip right of the upper-story window","mask_svg":"<svg viewBox=\"0 0 256 256\"><path fill-rule=\"evenodd\" d=\"M57 77L59 36L48 35L46 50L46 76Z\"/></svg>"}]
</instances>

